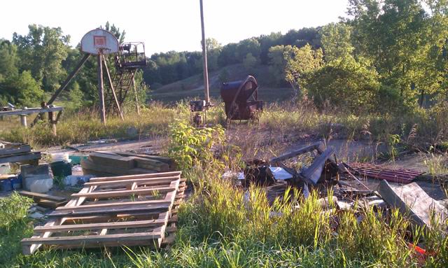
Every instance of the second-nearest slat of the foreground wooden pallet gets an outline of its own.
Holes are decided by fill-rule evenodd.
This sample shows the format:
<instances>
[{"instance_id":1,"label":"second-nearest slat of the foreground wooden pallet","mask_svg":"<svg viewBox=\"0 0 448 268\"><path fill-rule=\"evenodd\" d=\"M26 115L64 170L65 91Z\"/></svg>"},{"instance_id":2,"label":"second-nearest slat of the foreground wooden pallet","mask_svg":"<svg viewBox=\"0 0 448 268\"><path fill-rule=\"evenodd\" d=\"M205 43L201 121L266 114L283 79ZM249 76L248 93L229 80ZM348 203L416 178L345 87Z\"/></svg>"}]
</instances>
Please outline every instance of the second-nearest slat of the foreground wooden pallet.
<instances>
[{"instance_id":1,"label":"second-nearest slat of the foreground wooden pallet","mask_svg":"<svg viewBox=\"0 0 448 268\"><path fill-rule=\"evenodd\" d=\"M165 220L136 220L136 221L120 221L116 223L88 223L88 224L72 224L57 226L37 226L34 232L69 232L80 230L102 230L102 229L122 229L122 228L140 228L160 226Z\"/></svg>"}]
</instances>

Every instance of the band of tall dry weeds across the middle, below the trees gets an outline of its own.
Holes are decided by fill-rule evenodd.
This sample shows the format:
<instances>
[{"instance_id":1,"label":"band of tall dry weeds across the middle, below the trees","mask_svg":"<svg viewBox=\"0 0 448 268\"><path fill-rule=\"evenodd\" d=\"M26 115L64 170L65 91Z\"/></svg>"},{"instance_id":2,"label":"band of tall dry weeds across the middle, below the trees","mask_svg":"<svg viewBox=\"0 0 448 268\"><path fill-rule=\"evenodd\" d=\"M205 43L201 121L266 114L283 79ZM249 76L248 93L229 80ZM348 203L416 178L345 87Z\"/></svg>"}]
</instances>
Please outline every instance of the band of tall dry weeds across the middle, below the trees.
<instances>
[{"instance_id":1,"label":"band of tall dry weeds across the middle, below the trees","mask_svg":"<svg viewBox=\"0 0 448 268\"><path fill-rule=\"evenodd\" d=\"M218 102L218 101L216 101ZM309 101L269 104L259 122L232 122L226 126L223 104L207 113L209 124L226 126L232 133L268 133L283 143L283 139L366 139L390 142L398 139L407 146L440 146L446 150L448 141L448 105L431 109L416 109L412 113L364 113L353 115L337 109L323 111ZM176 120L188 121L190 111L186 101L174 106L158 102L141 110L125 113L125 120L110 116L106 126L96 111L65 113L57 125L57 136L41 122L33 128L20 127L17 118L0 121L0 140L30 143L35 148L85 143L95 139L143 139L167 136L169 125ZM270 138L269 138L270 139Z\"/></svg>"}]
</instances>

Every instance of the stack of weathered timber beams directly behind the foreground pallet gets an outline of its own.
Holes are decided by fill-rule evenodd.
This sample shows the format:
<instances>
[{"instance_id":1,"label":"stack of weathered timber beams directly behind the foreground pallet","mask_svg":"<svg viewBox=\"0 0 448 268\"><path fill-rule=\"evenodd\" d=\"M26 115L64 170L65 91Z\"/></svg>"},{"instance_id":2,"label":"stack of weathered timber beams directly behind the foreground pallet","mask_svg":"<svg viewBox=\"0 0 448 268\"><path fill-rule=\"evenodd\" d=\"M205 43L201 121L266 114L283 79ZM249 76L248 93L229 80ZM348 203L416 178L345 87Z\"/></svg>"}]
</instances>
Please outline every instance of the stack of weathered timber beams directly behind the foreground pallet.
<instances>
[{"instance_id":1,"label":"stack of weathered timber beams directly behind the foreground pallet","mask_svg":"<svg viewBox=\"0 0 448 268\"><path fill-rule=\"evenodd\" d=\"M81 161L84 174L123 176L173 171L176 167L168 157L138 153L95 152Z\"/></svg>"}]
</instances>

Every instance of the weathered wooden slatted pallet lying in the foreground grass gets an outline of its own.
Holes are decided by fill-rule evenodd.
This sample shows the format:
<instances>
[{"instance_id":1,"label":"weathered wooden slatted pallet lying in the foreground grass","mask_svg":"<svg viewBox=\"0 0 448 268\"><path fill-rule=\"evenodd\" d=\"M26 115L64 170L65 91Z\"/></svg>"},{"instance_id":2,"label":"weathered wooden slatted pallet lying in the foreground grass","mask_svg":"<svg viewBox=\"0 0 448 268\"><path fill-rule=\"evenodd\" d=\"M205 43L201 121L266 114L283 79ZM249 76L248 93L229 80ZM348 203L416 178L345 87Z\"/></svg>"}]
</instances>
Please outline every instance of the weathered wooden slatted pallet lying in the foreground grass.
<instances>
[{"instance_id":1,"label":"weathered wooden slatted pallet lying in the foreground grass","mask_svg":"<svg viewBox=\"0 0 448 268\"><path fill-rule=\"evenodd\" d=\"M39 247L168 246L186 183L181 172L92 178L48 223L22 239L25 255Z\"/></svg>"}]
</instances>

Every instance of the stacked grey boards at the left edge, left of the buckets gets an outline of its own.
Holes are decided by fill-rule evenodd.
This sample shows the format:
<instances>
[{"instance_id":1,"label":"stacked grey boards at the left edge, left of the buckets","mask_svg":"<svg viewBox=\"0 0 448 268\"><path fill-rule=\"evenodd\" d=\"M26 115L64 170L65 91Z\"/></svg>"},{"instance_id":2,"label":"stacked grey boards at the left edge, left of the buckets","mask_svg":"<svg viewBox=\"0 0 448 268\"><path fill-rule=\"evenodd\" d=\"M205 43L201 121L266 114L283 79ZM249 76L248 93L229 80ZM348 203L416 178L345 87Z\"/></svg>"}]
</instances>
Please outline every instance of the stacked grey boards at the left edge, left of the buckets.
<instances>
[{"instance_id":1,"label":"stacked grey boards at the left edge, left of the buckets","mask_svg":"<svg viewBox=\"0 0 448 268\"><path fill-rule=\"evenodd\" d=\"M0 164L15 162L38 162L41 152L31 152L29 144L0 141Z\"/></svg>"}]
</instances>

